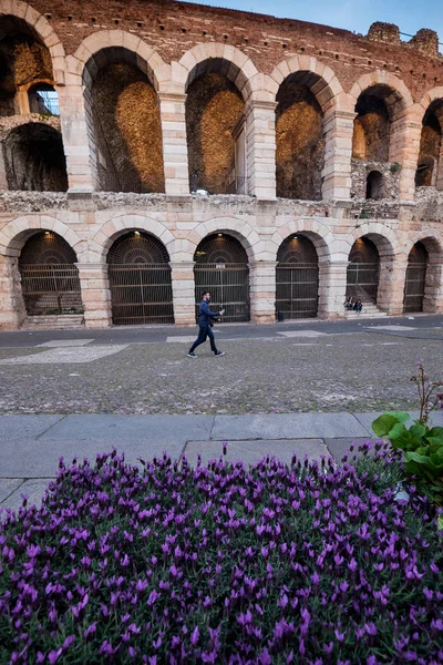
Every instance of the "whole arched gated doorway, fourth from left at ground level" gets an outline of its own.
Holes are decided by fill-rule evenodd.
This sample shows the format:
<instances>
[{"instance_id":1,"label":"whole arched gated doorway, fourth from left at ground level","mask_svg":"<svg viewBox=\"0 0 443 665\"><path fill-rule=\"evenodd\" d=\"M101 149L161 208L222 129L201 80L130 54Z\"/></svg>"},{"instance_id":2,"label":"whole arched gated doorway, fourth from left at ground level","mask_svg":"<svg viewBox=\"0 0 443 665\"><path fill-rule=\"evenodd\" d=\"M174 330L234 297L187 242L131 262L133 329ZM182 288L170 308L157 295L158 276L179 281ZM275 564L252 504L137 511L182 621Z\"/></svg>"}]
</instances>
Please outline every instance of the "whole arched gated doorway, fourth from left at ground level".
<instances>
[{"instance_id":1,"label":"whole arched gated doorway, fourth from left at ground level","mask_svg":"<svg viewBox=\"0 0 443 665\"><path fill-rule=\"evenodd\" d=\"M277 253L276 309L285 318L312 318L318 310L319 265L316 247L297 233Z\"/></svg>"}]
</instances>

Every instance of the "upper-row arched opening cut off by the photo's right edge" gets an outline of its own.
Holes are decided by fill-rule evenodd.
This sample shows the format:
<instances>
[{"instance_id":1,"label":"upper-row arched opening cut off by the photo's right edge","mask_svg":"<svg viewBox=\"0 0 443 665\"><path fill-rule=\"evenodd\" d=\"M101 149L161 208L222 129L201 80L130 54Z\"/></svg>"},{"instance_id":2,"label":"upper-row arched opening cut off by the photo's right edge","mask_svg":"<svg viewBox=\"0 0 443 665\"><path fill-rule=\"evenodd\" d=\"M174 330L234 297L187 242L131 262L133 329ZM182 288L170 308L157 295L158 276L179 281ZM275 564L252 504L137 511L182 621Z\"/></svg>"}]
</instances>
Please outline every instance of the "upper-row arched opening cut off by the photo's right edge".
<instances>
[{"instance_id":1,"label":"upper-row arched opening cut off by the photo's right edge","mask_svg":"<svg viewBox=\"0 0 443 665\"><path fill-rule=\"evenodd\" d=\"M443 188L442 167L443 101L435 100L423 117L415 186Z\"/></svg>"}]
</instances>

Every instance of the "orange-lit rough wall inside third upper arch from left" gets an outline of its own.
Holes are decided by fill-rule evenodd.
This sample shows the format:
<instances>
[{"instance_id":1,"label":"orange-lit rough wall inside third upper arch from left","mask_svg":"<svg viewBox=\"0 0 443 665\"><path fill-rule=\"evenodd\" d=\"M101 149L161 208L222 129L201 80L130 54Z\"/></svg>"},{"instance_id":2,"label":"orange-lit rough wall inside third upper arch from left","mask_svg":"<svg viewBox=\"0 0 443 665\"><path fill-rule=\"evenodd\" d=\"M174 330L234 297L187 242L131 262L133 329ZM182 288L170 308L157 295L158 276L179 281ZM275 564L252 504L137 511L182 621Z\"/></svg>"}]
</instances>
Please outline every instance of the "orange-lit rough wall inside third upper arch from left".
<instances>
[{"instance_id":1,"label":"orange-lit rough wall inside third upper arch from left","mask_svg":"<svg viewBox=\"0 0 443 665\"><path fill-rule=\"evenodd\" d=\"M241 94L226 76L203 74L189 85L186 134L192 188L195 184L214 194L228 192L235 168L233 131L243 110Z\"/></svg>"}]
</instances>

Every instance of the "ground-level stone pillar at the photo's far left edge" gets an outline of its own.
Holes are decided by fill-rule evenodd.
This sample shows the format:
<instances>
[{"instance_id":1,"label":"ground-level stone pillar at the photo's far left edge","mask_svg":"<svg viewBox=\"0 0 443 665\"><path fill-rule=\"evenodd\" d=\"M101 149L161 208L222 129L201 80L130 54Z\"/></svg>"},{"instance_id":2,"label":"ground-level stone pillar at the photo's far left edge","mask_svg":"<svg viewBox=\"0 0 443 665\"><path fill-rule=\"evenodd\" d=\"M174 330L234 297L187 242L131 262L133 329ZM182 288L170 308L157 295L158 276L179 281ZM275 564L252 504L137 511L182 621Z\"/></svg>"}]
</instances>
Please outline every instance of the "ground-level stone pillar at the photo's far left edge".
<instances>
[{"instance_id":1,"label":"ground-level stone pillar at the photo's far left edge","mask_svg":"<svg viewBox=\"0 0 443 665\"><path fill-rule=\"evenodd\" d=\"M0 256L0 330L17 330L25 318L19 259Z\"/></svg>"}]
</instances>

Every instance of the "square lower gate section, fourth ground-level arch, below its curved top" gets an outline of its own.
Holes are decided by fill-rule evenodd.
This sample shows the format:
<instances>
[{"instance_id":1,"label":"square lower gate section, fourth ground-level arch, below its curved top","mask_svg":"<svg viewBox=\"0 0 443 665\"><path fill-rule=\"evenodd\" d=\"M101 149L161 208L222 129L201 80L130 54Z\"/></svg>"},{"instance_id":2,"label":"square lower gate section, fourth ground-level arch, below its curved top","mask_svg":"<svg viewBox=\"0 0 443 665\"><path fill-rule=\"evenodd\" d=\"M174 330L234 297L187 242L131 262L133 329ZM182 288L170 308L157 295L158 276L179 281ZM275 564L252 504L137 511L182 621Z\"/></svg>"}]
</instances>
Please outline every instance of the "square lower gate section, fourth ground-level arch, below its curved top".
<instances>
[{"instance_id":1,"label":"square lower gate section, fourth ground-level arch, below its curved top","mask_svg":"<svg viewBox=\"0 0 443 665\"><path fill-rule=\"evenodd\" d=\"M276 309L285 318L312 318L318 310L318 264L278 264Z\"/></svg>"}]
</instances>

